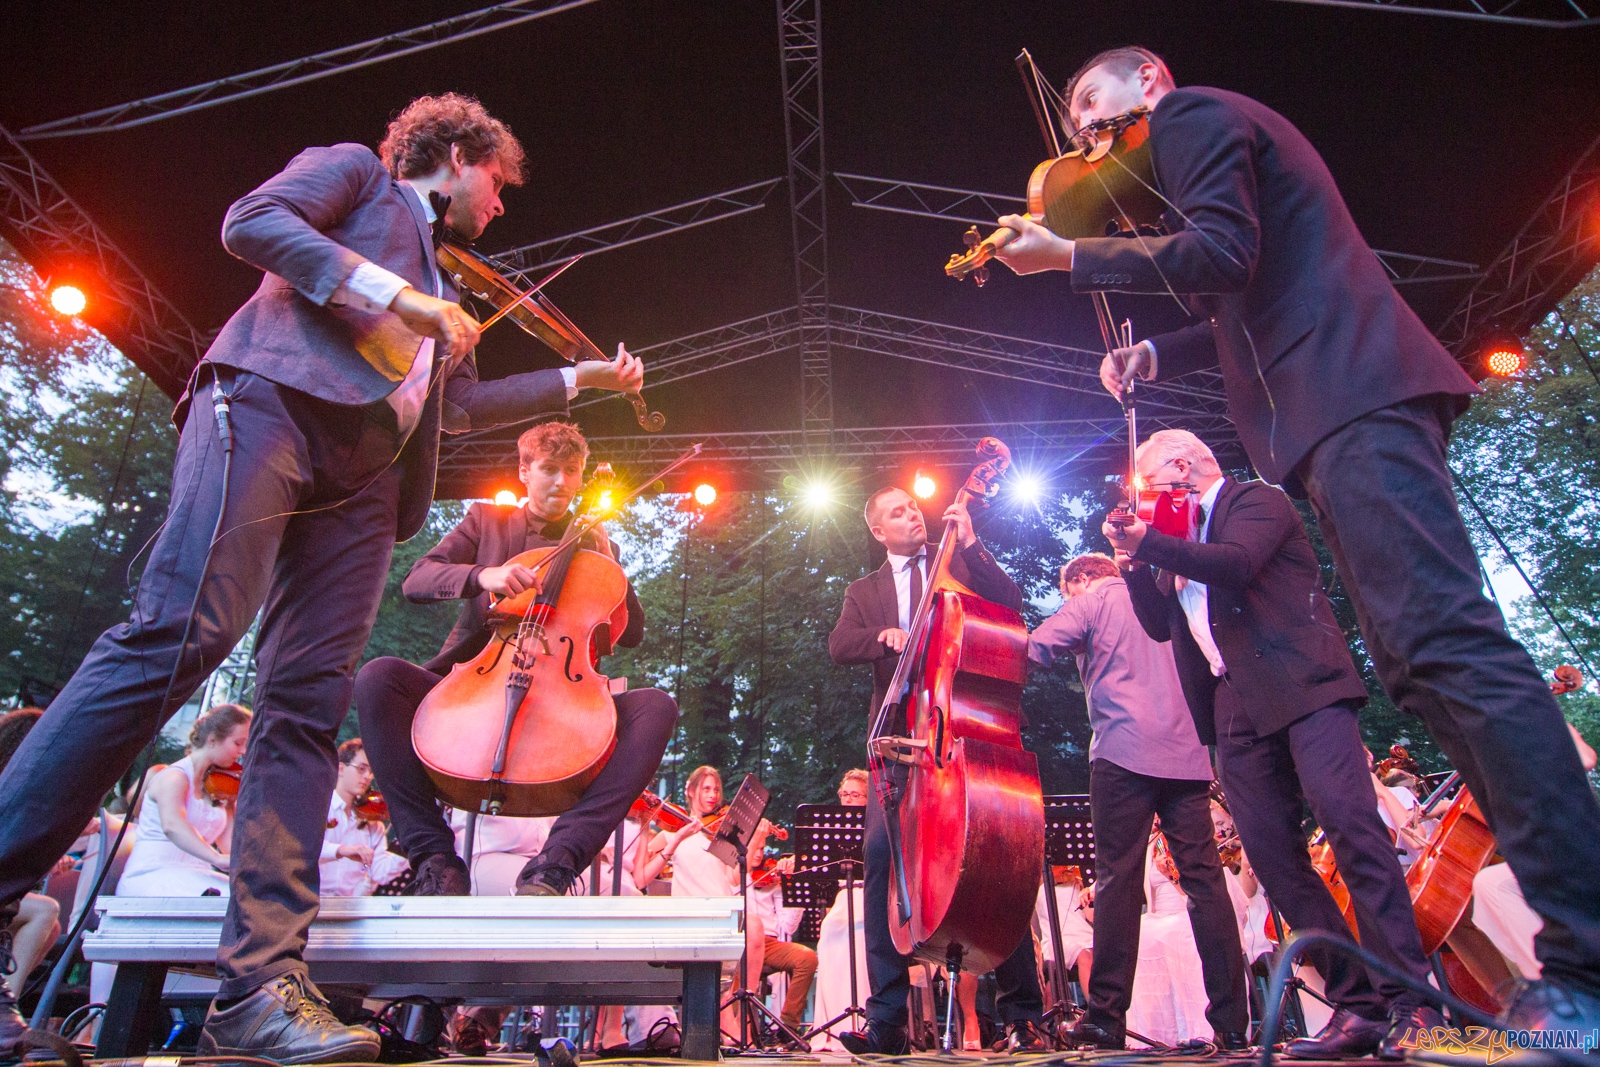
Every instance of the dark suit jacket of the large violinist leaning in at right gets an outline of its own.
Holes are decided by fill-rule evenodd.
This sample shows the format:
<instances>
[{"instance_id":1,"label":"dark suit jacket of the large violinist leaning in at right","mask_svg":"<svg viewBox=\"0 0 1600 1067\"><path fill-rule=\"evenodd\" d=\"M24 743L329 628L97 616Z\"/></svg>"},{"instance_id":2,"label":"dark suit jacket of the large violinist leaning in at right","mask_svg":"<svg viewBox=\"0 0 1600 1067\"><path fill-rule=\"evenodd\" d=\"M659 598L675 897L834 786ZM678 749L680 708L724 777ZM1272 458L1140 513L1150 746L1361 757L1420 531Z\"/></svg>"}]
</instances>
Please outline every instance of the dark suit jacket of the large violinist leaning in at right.
<instances>
[{"instance_id":1,"label":"dark suit jacket of the large violinist leaning in at right","mask_svg":"<svg viewBox=\"0 0 1600 1067\"><path fill-rule=\"evenodd\" d=\"M1317 149L1248 96L1184 88L1150 117L1170 237L1077 242L1072 288L1190 294L1195 326L1158 334L1160 379L1221 366L1256 470L1294 466L1379 408L1477 386L1389 283ZM1187 221L1186 221L1187 219Z\"/></svg>"}]
</instances>

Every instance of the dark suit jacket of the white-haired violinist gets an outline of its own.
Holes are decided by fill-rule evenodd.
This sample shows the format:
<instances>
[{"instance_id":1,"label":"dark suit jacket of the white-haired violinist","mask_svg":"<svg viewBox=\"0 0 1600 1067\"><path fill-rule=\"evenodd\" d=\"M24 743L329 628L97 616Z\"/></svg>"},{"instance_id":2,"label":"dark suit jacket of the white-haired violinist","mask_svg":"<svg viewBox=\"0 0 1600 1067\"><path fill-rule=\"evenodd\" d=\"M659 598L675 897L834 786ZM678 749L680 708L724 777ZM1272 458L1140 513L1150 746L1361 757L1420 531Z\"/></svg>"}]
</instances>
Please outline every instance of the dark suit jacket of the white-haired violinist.
<instances>
[{"instance_id":1,"label":"dark suit jacket of the white-haired violinist","mask_svg":"<svg viewBox=\"0 0 1600 1067\"><path fill-rule=\"evenodd\" d=\"M1216 744L1218 678L1189 630L1173 576L1205 582L1211 640L1227 685L1261 736L1342 701L1366 701L1322 569L1299 512L1266 482L1227 478L1218 493L1205 544L1150 530L1128 576L1128 595L1144 632L1173 643L1173 661L1203 744Z\"/></svg>"}]
</instances>

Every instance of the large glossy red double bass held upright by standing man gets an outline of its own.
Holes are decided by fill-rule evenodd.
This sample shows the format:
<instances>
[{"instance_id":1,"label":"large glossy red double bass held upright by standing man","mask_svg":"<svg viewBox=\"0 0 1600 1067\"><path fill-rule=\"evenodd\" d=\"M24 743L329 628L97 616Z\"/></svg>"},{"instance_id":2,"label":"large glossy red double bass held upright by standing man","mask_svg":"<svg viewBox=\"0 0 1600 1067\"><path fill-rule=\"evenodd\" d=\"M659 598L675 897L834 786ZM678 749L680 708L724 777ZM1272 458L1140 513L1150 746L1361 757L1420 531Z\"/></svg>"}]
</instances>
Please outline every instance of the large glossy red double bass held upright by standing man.
<instances>
[{"instance_id":1,"label":"large glossy red double bass held upright by standing man","mask_svg":"<svg viewBox=\"0 0 1600 1067\"><path fill-rule=\"evenodd\" d=\"M1011 459L987 437L978 456L957 493L968 507L987 499ZM947 523L928 563L869 755L890 837L894 947L979 974L1027 936L1045 808L1038 760L1021 737L1027 627L955 581L955 536Z\"/></svg>"}]
</instances>

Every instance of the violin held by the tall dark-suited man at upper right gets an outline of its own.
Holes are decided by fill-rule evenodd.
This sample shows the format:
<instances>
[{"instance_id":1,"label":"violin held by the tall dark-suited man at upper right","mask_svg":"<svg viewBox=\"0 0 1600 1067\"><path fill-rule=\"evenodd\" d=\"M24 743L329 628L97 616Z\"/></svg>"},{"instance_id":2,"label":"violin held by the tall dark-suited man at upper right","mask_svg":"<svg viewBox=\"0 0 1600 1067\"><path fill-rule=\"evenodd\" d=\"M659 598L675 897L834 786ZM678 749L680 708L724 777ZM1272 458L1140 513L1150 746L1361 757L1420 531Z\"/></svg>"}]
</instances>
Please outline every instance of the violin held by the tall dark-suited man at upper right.
<instances>
[{"instance_id":1,"label":"violin held by the tall dark-suited man at upper right","mask_svg":"<svg viewBox=\"0 0 1600 1067\"><path fill-rule=\"evenodd\" d=\"M1150 109L1091 122L1072 138L1072 150L1045 160L1027 179L1027 214L1056 237L1152 237L1163 232L1165 202L1155 192L1150 162ZM987 262L1021 237L1002 226L989 237L966 230L966 251L950 256L944 274L960 282L989 280Z\"/></svg>"}]
</instances>

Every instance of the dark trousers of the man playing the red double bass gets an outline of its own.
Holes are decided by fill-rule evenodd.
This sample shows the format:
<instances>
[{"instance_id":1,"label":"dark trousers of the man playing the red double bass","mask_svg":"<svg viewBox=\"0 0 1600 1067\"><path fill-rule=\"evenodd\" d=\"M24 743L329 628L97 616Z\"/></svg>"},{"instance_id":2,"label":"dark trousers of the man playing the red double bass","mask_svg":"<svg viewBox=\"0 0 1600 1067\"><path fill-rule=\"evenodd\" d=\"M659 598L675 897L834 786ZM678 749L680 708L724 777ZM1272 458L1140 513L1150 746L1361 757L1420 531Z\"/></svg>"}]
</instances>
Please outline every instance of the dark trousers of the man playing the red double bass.
<instances>
[{"instance_id":1,"label":"dark trousers of the man playing the red double bass","mask_svg":"<svg viewBox=\"0 0 1600 1067\"><path fill-rule=\"evenodd\" d=\"M896 771L904 774L902 768L891 769ZM888 824L883 821L877 789L867 790L866 861L862 904L867 913L862 926L867 936L867 984L872 989L866 1005L867 1021L904 1027L909 1017L906 998L910 993L912 957L901 955L890 934L890 878L894 875ZM995 998L1000 1022L1038 1022L1045 1016L1032 937L1022 937L1016 952L995 968L995 985L1000 992Z\"/></svg>"}]
</instances>

